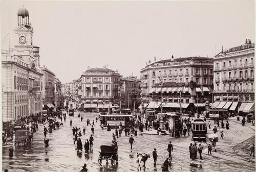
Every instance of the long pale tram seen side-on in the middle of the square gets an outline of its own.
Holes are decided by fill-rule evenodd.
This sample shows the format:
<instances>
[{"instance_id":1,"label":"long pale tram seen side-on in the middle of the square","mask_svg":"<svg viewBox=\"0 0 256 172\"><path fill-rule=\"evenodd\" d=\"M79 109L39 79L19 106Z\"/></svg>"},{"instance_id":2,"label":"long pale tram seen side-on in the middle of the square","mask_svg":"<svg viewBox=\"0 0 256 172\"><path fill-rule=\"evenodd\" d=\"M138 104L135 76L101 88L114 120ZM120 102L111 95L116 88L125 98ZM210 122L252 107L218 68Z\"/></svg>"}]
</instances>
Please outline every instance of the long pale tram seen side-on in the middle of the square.
<instances>
[{"instance_id":1,"label":"long pale tram seen side-on in the middle of the square","mask_svg":"<svg viewBox=\"0 0 256 172\"><path fill-rule=\"evenodd\" d=\"M115 128L120 125L120 122L122 126L132 125L134 122L133 115L126 113L110 113L100 115L100 124L103 124L103 126L109 125L111 128Z\"/></svg>"}]
</instances>

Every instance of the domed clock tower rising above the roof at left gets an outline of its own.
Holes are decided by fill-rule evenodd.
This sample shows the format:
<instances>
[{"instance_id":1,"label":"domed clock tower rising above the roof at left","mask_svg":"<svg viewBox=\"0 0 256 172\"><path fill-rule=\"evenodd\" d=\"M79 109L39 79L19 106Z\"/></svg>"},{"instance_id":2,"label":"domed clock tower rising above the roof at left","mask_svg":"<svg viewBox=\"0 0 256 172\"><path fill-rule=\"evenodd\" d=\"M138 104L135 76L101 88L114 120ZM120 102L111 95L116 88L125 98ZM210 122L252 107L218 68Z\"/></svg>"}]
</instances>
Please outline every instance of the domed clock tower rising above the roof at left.
<instances>
[{"instance_id":1,"label":"domed clock tower rising above the roof at left","mask_svg":"<svg viewBox=\"0 0 256 172\"><path fill-rule=\"evenodd\" d=\"M29 51L33 53L33 28L29 22L29 12L22 7L18 10L18 26L14 29L16 34L16 44L19 51Z\"/></svg>"}]
</instances>

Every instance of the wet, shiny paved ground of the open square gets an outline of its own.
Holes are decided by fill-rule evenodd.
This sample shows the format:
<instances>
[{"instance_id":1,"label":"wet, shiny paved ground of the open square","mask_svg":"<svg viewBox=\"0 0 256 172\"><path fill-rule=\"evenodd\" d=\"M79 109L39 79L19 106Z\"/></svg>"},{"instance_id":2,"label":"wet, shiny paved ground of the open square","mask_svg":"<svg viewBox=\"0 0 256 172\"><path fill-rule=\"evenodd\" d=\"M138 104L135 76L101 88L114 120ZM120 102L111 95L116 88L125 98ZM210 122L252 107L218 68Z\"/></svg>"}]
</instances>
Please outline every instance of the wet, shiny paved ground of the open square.
<instances>
[{"instance_id":1,"label":"wet, shiny paved ground of the open square","mask_svg":"<svg viewBox=\"0 0 256 172\"><path fill-rule=\"evenodd\" d=\"M90 122L95 120L94 113L81 113L83 122L78 118L78 112L75 112L73 126L77 126L82 131L83 126L87 128L86 135L80 137L82 144L86 139L89 139L91 134L91 127L86 126L86 119L90 118ZM60 119L58 119L60 121ZM99 127L99 120L95 120L95 134L93 152L78 154L73 143L73 135L69 124L70 117L67 118L63 128L47 134L50 139L48 154L45 154L44 149L44 134L42 132L44 126L39 127L39 131L34 133L33 145L30 148L21 146L15 149L12 161L9 161L8 149L9 144L3 148L3 170L8 168L10 171L79 171L83 163L88 164L89 171L99 170L98 156L101 144L108 144L112 141L112 133L103 131ZM238 167L240 171L255 171L255 159L249 158L249 154L244 153L244 145L241 143L246 141L246 145L251 144L254 139L254 126L248 124L242 127L236 119L230 119L230 130L223 131L229 134L224 135L223 140L217 143L218 152L213 152L211 156L206 155L207 149L203 151L203 160L192 161L189 159L188 146L191 141L190 137L172 138L169 135L142 135L138 134L135 137L133 152L130 150L129 136L124 136L122 133L118 141L118 165L111 166L111 163L105 164L102 161L104 171L137 171L136 154L137 152L150 153L154 148L157 149L159 158L157 160L156 168L153 166L153 157L146 161L145 171L161 171L161 163L167 157L167 144L169 140L173 141L174 153L172 161L172 171L235 171ZM212 121L213 124L213 121ZM48 127L48 123L46 124ZM209 131L212 132L211 130ZM234 139L236 138L236 139ZM247 140L248 139L248 140ZM241 144L239 144L241 143ZM207 148L206 143L202 143ZM199 156L199 155L198 155ZM142 170L143 171L143 170Z\"/></svg>"}]
</instances>

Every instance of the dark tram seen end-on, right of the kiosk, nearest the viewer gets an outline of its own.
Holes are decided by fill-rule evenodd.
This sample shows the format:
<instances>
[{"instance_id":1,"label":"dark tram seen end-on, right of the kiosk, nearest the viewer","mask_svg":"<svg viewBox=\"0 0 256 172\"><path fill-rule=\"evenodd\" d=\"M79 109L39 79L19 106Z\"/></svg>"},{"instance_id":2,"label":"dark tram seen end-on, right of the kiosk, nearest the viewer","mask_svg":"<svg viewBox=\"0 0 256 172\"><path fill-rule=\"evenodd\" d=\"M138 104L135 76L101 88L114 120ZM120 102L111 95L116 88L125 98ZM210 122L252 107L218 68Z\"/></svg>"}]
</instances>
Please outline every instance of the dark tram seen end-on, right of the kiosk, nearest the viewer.
<instances>
[{"instance_id":1,"label":"dark tram seen end-on, right of the kiosk, nearest the viewer","mask_svg":"<svg viewBox=\"0 0 256 172\"><path fill-rule=\"evenodd\" d=\"M203 140L206 141L206 122L203 119L197 118L191 122L191 131L193 140Z\"/></svg>"}]
</instances>

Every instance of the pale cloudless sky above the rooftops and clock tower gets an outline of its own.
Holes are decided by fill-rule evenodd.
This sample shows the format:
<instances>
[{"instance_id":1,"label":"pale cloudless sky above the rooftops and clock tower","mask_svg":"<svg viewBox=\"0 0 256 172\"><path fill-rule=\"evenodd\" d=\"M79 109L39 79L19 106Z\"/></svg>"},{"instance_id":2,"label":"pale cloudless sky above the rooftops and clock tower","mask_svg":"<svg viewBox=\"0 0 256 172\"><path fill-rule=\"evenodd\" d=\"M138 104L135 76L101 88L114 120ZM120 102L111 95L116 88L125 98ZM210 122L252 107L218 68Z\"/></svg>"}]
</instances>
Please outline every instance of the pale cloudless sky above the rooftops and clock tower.
<instances>
[{"instance_id":1,"label":"pale cloudless sky above the rooftops and clock tower","mask_svg":"<svg viewBox=\"0 0 256 172\"><path fill-rule=\"evenodd\" d=\"M148 60L214 57L255 38L254 1L60 2L2 1L1 41L13 48L17 11L28 9L40 47L40 64L62 83L78 79L87 66L140 78ZM8 48L8 41L2 43Z\"/></svg>"}]
</instances>

